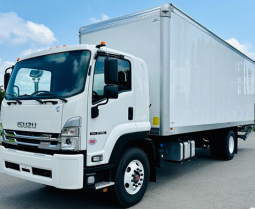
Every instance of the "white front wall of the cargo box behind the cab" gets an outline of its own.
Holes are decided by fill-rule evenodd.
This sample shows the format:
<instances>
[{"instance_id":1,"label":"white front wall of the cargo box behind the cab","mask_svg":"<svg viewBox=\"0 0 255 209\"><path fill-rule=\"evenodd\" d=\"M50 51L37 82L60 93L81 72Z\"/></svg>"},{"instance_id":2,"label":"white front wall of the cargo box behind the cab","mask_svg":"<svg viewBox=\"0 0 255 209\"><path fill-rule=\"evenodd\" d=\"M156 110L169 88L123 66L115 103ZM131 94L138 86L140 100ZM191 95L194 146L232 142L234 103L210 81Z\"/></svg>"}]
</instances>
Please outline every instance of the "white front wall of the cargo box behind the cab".
<instances>
[{"instance_id":1,"label":"white front wall of the cargo box behind the cab","mask_svg":"<svg viewBox=\"0 0 255 209\"><path fill-rule=\"evenodd\" d=\"M116 25L114 25L114 23L112 27L107 29L81 35L82 44L97 44L101 41L105 41L107 47L132 54L146 62L149 68L150 79L151 124L153 124L153 117L159 117L160 115L160 21L159 17L156 18L157 21L155 21L155 15L158 17L159 11L157 14L155 13L153 17L148 15L142 19L135 19L132 21L127 19L121 24L116 23ZM142 65L144 68L146 67L145 64ZM144 82L147 82L146 73L143 76L145 76ZM159 126L153 127L158 128Z\"/></svg>"}]
</instances>

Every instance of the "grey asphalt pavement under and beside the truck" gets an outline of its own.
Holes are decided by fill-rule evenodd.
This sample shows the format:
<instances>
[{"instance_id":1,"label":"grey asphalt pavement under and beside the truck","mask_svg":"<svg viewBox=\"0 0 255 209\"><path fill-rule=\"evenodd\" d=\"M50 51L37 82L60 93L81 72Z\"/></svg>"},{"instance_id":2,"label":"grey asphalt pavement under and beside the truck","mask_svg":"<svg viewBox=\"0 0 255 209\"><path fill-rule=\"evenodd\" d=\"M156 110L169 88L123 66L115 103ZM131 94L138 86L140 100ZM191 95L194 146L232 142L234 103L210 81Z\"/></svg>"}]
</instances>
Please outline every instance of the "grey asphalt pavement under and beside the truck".
<instances>
[{"instance_id":1,"label":"grey asphalt pavement under and beside the truck","mask_svg":"<svg viewBox=\"0 0 255 209\"><path fill-rule=\"evenodd\" d=\"M232 161L215 160L209 150L183 164L157 170L143 200L133 208L255 208L255 134L239 140ZM111 193L68 191L46 187L0 173L0 208L118 208Z\"/></svg>"}]
</instances>

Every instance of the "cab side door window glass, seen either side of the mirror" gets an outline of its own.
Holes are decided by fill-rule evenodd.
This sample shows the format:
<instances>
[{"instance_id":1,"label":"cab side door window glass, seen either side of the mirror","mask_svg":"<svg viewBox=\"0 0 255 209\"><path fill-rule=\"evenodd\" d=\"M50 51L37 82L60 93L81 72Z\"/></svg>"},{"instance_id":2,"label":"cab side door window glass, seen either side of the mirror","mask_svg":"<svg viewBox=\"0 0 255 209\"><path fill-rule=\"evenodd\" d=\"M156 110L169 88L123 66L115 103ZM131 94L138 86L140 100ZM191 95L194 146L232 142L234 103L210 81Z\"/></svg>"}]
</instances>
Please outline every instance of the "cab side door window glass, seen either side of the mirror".
<instances>
[{"instance_id":1,"label":"cab side door window glass, seen either side of the mirror","mask_svg":"<svg viewBox=\"0 0 255 209\"><path fill-rule=\"evenodd\" d=\"M96 61L93 82L92 103L104 99L104 60L105 56L99 56ZM118 86L119 93L131 90L131 66L127 60L118 59Z\"/></svg>"}]
</instances>

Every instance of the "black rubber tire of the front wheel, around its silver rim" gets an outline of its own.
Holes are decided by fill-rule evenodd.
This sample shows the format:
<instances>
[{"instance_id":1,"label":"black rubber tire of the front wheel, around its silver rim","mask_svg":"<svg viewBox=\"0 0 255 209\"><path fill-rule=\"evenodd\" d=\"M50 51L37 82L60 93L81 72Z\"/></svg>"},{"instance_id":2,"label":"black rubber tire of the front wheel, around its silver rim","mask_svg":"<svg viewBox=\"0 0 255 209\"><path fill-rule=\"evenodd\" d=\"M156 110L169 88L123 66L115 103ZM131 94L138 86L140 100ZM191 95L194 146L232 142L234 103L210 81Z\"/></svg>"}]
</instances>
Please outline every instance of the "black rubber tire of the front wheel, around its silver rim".
<instances>
[{"instance_id":1,"label":"black rubber tire of the front wheel, around its silver rim","mask_svg":"<svg viewBox=\"0 0 255 209\"><path fill-rule=\"evenodd\" d=\"M143 171L141 172L141 176L139 175L139 177L143 177L143 179L138 178L139 179L138 181L141 183L141 186L139 186L139 188L137 189L138 190L137 193L130 194L127 190L132 189L133 186L129 185L128 183L125 183L124 177L125 175L127 175L127 172L129 172L128 170L130 168L128 166L135 161L139 161L139 163L141 163L143 166ZM130 175L132 173L134 173L133 170L130 171ZM126 150L119 161L119 164L116 170L116 177L115 177L115 192L116 192L115 194L118 199L118 202L123 207L126 207L126 208L131 207L137 204L143 198L148 186L149 175L150 175L150 166L149 166L148 158L146 154L144 153L144 151L139 148L129 148L128 150ZM134 178L136 179L136 177ZM128 185L128 187L126 185Z\"/></svg>"}]
</instances>

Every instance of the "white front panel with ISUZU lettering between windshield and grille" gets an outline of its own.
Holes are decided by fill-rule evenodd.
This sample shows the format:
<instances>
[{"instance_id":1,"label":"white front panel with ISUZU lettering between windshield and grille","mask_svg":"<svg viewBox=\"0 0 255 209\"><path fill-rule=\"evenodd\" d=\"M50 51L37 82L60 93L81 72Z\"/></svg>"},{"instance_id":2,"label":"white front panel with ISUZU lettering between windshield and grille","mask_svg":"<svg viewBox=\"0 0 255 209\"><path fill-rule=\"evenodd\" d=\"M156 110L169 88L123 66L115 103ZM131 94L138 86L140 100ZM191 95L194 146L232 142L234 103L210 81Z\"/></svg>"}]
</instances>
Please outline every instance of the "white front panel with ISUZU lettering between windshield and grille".
<instances>
[{"instance_id":1,"label":"white front panel with ISUZU lettering between windshield and grille","mask_svg":"<svg viewBox=\"0 0 255 209\"><path fill-rule=\"evenodd\" d=\"M6 100L4 100L1 119L4 129L60 133L62 112L63 104L60 102L57 105L51 103L41 105L37 101L22 100L21 105L7 105ZM24 123L23 127L22 124L18 126L20 122ZM26 126L26 124L29 125L28 123L33 123L33 125L30 125L29 128Z\"/></svg>"}]
</instances>

